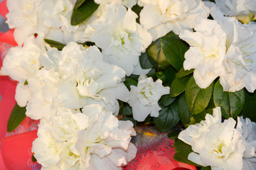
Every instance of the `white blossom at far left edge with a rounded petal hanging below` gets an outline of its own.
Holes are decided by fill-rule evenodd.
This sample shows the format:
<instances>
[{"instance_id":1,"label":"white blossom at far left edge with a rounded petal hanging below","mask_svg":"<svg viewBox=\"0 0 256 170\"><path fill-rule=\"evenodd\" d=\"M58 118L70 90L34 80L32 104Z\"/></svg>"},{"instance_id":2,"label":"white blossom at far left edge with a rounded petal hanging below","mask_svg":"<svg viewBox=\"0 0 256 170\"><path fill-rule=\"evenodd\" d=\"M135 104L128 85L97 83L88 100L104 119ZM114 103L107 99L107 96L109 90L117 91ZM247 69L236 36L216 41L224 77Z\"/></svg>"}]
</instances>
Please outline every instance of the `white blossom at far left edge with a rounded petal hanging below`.
<instances>
[{"instance_id":1,"label":"white blossom at far left edge with a rounded petal hanging below","mask_svg":"<svg viewBox=\"0 0 256 170\"><path fill-rule=\"evenodd\" d=\"M23 47L11 47L4 57L1 74L9 75L11 79L18 81L15 99L18 106L25 107L31 93L27 86L27 79L33 72L42 67L39 57L46 52L48 45L43 41L43 35L39 34L26 38Z\"/></svg>"}]
</instances>

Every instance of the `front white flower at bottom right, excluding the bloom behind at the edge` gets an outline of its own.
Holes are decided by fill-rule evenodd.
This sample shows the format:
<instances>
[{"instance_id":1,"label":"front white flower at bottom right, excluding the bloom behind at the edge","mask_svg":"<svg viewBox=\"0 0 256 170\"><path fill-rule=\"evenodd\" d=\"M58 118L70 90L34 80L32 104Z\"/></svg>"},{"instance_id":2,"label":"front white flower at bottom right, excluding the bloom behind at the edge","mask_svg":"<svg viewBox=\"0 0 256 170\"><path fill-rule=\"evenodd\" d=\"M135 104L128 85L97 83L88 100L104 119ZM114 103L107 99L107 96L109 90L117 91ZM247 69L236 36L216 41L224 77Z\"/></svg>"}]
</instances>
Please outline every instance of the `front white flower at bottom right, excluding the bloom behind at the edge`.
<instances>
[{"instance_id":1,"label":"front white flower at bottom right, excluding the bloom behind at the edge","mask_svg":"<svg viewBox=\"0 0 256 170\"><path fill-rule=\"evenodd\" d=\"M191 145L193 152L188 154L188 160L196 164L213 170L242 169L245 146L241 134L235 129L233 118L221 123L220 108L213 110L213 116L207 114L205 121L181 131L178 139Z\"/></svg>"}]
</instances>

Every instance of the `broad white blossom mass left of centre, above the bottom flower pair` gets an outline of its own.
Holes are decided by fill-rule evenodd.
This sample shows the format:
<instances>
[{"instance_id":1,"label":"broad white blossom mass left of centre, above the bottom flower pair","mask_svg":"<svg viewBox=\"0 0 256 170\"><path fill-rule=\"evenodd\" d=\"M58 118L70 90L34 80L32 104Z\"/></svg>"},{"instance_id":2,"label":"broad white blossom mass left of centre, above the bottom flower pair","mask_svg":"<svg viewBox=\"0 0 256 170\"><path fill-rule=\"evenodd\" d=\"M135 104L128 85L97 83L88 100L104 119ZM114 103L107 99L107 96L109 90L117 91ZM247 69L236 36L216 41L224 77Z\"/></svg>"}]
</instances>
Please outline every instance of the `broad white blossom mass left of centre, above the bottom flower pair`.
<instances>
[{"instance_id":1,"label":"broad white blossom mass left of centre, above the bottom flower pair","mask_svg":"<svg viewBox=\"0 0 256 170\"><path fill-rule=\"evenodd\" d=\"M59 107L80 109L99 103L117 115L117 99L127 101L129 91L124 86L123 69L103 62L97 47L83 49L69 42L62 51L49 47L40 57L42 68L28 77L29 95L26 115L40 119ZM28 95L21 89L18 95Z\"/></svg>"}]
</instances>

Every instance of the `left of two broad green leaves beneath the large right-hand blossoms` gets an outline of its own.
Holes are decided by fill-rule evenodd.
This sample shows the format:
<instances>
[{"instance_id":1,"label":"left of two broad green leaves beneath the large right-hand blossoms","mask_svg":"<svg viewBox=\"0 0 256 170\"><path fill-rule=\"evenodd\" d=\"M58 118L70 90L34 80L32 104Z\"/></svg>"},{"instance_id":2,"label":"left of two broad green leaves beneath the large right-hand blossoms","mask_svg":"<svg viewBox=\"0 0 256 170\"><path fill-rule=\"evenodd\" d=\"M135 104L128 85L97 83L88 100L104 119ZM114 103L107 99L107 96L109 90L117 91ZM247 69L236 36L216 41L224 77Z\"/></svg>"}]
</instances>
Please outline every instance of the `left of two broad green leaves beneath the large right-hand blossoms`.
<instances>
[{"instance_id":1,"label":"left of two broad green leaves beneath the large right-hand blossoms","mask_svg":"<svg viewBox=\"0 0 256 170\"><path fill-rule=\"evenodd\" d=\"M208 86L206 89L201 89L198 87L193 77L189 79L188 84L186 84L185 95L188 110L192 114L201 113L207 108L213 94L213 87L214 83L210 84L210 86Z\"/></svg>"}]
</instances>

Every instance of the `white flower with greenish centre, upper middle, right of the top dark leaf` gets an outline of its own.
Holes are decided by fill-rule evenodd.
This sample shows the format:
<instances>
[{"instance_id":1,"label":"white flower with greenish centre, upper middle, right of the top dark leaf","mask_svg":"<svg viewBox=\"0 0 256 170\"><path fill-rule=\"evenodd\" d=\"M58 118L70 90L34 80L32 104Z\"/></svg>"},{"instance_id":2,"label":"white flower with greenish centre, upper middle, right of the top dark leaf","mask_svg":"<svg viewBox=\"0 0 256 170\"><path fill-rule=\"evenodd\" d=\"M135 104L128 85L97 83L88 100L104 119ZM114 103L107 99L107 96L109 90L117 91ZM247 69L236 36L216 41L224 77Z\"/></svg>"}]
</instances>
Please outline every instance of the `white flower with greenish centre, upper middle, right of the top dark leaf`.
<instances>
[{"instance_id":1,"label":"white flower with greenish centre, upper middle, right of the top dark leaf","mask_svg":"<svg viewBox=\"0 0 256 170\"><path fill-rule=\"evenodd\" d=\"M102 49L105 62L116 64L129 76L139 64L139 55L151 43L151 35L136 23L136 18L131 8L127 11L119 4L100 6L84 32L78 32L82 36L76 36L77 40L95 42Z\"/></svg>"}]
</instances>

